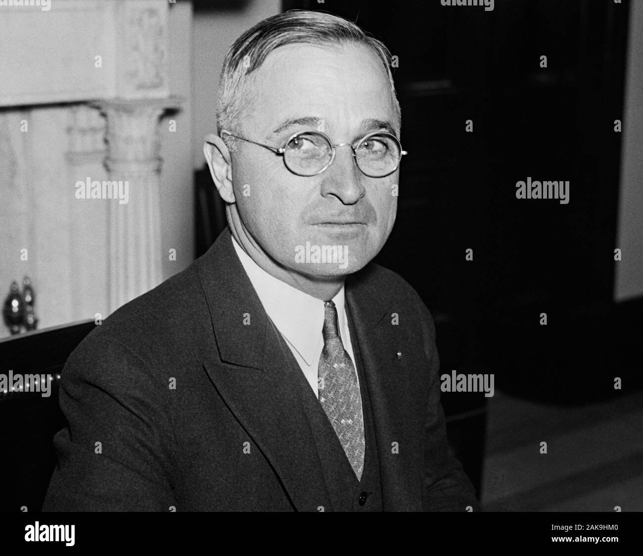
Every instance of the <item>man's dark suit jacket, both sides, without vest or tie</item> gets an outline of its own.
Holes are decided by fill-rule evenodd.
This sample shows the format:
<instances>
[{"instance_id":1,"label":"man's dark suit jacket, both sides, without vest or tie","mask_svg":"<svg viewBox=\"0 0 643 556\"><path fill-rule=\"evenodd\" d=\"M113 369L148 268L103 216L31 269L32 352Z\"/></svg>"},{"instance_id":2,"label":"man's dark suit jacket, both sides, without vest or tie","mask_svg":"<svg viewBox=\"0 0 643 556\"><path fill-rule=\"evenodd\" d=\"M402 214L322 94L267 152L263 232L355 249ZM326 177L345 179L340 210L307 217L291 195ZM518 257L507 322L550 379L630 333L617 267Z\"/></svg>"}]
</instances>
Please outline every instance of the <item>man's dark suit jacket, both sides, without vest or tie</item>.
<instances>
[{"instance_id":1,"label":"man's dark suit jacket, both sides, without vest or tie","mask_svg":"<svg viewBox=\"0 0 643 556\"><path fill-rule=\"evenodd\" d=\"M448 448L429 311L377 264L347 277L345 288L383 509L477 510ZM325 446L303 412L302 381L285 369L303 377L226 229L69 357L60 389L68 427L55 436L59 463L43 509L332 510Z\"/></svg>"}]
</instances>

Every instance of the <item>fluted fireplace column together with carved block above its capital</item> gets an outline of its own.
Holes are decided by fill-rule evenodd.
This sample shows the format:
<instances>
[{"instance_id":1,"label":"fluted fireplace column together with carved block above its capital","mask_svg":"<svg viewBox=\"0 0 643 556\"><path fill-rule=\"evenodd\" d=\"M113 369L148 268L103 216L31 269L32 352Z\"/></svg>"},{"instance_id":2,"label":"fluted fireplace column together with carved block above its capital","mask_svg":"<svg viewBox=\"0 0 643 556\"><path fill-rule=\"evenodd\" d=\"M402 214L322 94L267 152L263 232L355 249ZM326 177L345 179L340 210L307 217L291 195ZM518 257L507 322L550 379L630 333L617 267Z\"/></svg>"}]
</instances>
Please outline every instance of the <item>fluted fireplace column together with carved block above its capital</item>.
<instances>
[{"instance_id":1,"label":"fluted fireplace column together with carved block above its capital","mask_svg":"<svg viewBox=\"0 0 643 556\"><path fill-rule=\"evenodd\" d=\"M109 179L125 199L108 215L109 311L163 281L159 118L181 100L168 97L167 2L118 1L113 97L96 102L107 116Z\"/></svg>"}]
</instances>

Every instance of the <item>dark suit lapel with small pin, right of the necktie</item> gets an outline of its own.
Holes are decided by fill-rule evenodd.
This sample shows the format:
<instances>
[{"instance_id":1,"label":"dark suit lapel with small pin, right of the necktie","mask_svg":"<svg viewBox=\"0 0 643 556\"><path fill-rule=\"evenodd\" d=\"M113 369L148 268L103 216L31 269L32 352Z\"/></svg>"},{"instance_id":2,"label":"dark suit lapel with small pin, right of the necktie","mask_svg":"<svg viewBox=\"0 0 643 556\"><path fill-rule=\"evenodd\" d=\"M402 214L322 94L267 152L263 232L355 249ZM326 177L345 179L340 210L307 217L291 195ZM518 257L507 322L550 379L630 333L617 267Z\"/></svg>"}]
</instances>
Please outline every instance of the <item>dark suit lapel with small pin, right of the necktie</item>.
<instances>
[{"instance_id":1,"label":"dark suit lapel with small pin, right of the necktie","mask_svg":"<svg viewBox=\"0 0 643 556\"><path fill-rule=\"evenodd\" d=\"M358 273L348 277L346 298L350 334L356 338L363 372L367 376L382 505L385 511L421 511L422 478L410 466L412 458L392 452L394 442L400 450L408 450L412 442L423 440L411 438L406 426L409 422L408 369L397 358L398 346L392 341L392 309L383 292L377 292L368 284L367 276L367 273Z\"/></svg>"}]
</instances>

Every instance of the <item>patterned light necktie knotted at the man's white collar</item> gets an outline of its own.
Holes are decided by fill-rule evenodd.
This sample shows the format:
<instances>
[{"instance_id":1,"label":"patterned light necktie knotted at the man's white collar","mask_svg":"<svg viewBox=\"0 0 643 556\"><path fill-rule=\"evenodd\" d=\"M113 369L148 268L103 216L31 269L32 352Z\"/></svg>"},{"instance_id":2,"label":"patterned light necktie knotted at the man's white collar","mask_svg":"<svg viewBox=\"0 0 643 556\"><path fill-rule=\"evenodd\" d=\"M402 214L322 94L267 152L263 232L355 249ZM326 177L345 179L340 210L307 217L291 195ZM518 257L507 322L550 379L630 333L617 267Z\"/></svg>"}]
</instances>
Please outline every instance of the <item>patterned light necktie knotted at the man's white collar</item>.
<instances>
[{"instance_id":1,"label":"patterned light necktie knotted at the man's white collar","mask_svg":"<svg viewBox=\"0 0 643 556\"><path fill-rule=\"evenodd\" d=\"M338 333L337 309L324 302L323 349L318 367L319 396L358 480L364 468L364 422L358 375Z\"/></svg>"}]
</instances>

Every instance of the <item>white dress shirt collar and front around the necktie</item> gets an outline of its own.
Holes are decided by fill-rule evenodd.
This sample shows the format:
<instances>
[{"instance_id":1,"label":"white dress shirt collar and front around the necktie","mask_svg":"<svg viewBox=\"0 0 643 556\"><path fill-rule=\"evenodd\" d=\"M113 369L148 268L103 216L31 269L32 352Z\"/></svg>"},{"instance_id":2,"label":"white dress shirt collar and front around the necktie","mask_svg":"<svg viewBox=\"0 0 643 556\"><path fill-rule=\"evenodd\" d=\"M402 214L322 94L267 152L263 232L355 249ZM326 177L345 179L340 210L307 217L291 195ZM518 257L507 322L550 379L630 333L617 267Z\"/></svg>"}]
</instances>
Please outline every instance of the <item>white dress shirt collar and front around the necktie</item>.
<instances>
[{"instance_id":1,"label":"white dress shirt collar and front around the necktie","mask_svg":"<svg viewBox=\"0 0 643 556\"><path fill-rule=\"evenodd\" d=\"M321 349L323 349L323 336L321 335L324 320L323 301L303 293L267 273L251 259L233 236L232 244L235 246L239 260L268 317L284 337L301 367L303 375L311 385L312 391L319 398L317 375ZM344 306L344 286L341 286L341 290L332 298L332 301L337 308L341 342L357 372L353 348L350 343L348 317Z\"/></svg>"}]
</instances>

